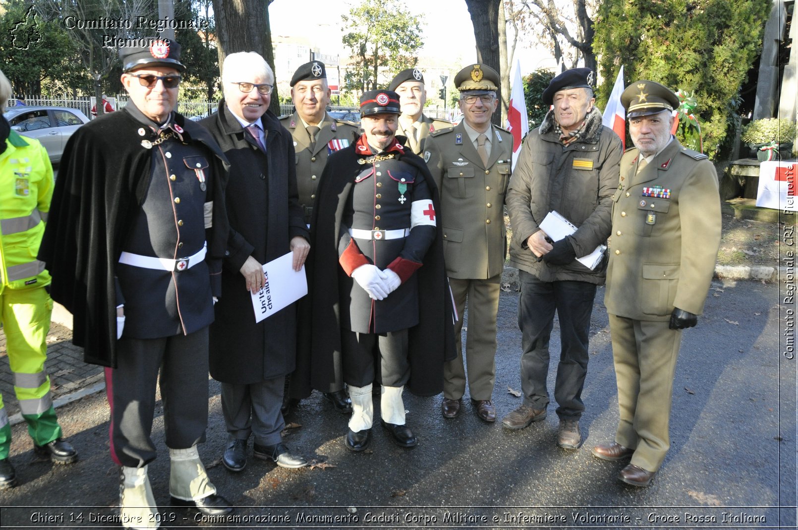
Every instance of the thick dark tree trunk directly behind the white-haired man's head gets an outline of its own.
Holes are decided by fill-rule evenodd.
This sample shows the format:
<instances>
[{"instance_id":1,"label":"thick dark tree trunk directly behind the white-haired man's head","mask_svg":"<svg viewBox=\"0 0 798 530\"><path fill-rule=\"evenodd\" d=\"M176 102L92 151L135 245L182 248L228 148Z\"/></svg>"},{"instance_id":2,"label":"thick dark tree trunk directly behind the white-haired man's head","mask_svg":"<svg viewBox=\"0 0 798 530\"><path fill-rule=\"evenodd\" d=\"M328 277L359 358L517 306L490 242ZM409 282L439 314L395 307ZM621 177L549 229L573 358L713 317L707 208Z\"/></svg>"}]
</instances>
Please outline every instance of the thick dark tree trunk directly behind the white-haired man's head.
<instances>
[{"instance_id":1,"label":"thick dark tree trunk directly behind the white-haired man's head","mask_svg":"<svg viewBox=\"0 0 798 530\"><path fill-rule=\"evenodd\" d=\"M260 53L274 71L275 54L271 49L269 27L271 2L273 0L213 0L220 70L224 57L230 53L254 51ZM276 91L272 92L269 109L279 116L278 96Z\"/></svg>"}]
</instances>

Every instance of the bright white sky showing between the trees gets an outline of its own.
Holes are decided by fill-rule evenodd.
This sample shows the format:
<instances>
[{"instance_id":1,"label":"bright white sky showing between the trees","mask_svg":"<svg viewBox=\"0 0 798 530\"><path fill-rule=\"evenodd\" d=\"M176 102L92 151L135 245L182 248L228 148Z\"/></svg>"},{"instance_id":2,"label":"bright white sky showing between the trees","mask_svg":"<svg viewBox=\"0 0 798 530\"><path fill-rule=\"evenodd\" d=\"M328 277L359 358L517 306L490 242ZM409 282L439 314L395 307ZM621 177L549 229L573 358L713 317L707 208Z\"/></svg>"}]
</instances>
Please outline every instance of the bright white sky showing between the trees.
<instances>
[{"instance_id":1,"label":"bright white sky showing between the trees","mask_svg":"<svg viewBox=\"0 0 798 530\"><path fill-rule=\"evenodd\" d=\"M341 43L341 15L348 13L355 2L356 0L275 0L269 6L272 34L288 37L319 36L322 42L329 43L329 49L334 49L330 52L322 49L322 53L343 55L345 50ZM425 42L421 57L433 57L459 64L476 61L474 30L464 0L405 0L404 4L411 13L421 18ZM555 66L555 61L548 52L523 49L522 46L520 43L516 46L516 58L521 61L522 73Z\"/></svg>"}]
</instances>

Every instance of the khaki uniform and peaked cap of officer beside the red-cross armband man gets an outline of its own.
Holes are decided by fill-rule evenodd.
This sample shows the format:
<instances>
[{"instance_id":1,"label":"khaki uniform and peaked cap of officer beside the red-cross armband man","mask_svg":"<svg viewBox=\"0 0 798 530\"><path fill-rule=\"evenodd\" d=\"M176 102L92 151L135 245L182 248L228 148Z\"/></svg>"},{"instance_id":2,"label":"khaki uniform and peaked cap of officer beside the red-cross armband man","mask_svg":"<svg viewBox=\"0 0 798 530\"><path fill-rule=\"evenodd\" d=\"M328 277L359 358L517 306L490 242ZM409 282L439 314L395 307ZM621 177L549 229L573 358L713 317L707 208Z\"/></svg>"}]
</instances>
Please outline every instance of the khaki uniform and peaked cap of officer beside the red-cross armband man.
<instances>
[{"instance_id":1,"label":"khaki uniform and peaked cap of officer beside the red-cross armband man","mask_svg":"<svg viewBox=\"0 0 798 530\"><path fill-rule=\"evenodd\" d=\"M472 68L476 66L461 73L469 74ZM480 82L489 81L488 67L481 69L486 78ZM455 85L481 86L470 79L460 84L460 77ZM490 400L496 378L496 314L506 252L504 193L510 180L512 135L496 125L490 125L485 134L491 140L487 164L469 137L465 121L453 129L435 131L425 144L424 158L440 191L446 273L460 316L455 326L457 358L444 368L444 398L448 399L459 399L465 392L460 333L467 298L465 357L471 398Z\"/></svg>"}]
</instances>

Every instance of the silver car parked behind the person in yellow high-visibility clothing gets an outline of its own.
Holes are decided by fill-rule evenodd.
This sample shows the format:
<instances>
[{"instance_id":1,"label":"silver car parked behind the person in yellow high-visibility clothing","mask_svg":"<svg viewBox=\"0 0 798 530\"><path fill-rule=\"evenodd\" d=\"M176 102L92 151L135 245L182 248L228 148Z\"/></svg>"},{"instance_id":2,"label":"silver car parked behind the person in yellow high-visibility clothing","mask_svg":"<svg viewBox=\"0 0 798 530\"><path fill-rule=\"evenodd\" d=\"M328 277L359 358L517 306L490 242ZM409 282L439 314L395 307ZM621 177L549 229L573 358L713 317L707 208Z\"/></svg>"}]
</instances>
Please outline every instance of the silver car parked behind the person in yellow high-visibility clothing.
<instances>
[{"instance_id":1,"label":"silver car parked behind the person in yellow high-visibility clothing","mask_svg":"<svg viewBox=\"0 0 798 530\"><path fill-rule=\"evenodd\" d=\"M39 140L53 164L61 162L61 153L69 136L81 125L89 123L84 113L66 107L12 107L3 116L11 129Z\"/></svg>"}]
</instances>

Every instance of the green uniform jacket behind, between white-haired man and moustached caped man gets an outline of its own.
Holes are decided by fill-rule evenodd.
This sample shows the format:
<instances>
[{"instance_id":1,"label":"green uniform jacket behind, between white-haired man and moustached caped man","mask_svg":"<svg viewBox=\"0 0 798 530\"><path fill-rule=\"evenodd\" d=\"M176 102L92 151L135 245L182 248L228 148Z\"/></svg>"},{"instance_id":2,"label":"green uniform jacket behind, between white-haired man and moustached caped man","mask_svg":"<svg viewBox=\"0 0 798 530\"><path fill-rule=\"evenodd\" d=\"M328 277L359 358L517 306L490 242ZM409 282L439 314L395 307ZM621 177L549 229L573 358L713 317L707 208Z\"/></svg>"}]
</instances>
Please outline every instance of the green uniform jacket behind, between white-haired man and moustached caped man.
<instances>
[{"instance_id":1,"label":"green uniform jacket behind, between white-haired man and moustached caped man","mask_svg":"<svg viewBox=\"0 0 798 530\"><path fill-rule=\"evenodd\" d=\"M359 127L349 121L335 120L325 113L314 144L311 146L310 134L305 124L294 112L280 118L280 123L294 137L294 152L297 164L297 184L299 188L299 204L305 212L305 222L310 223L313 201L316 199L318 179L322 176L327 156L330 152L346 148L358 139Z\"/></svg>"}]
</instances>

